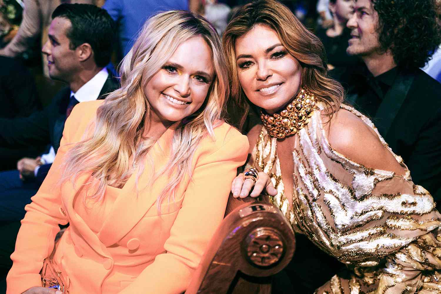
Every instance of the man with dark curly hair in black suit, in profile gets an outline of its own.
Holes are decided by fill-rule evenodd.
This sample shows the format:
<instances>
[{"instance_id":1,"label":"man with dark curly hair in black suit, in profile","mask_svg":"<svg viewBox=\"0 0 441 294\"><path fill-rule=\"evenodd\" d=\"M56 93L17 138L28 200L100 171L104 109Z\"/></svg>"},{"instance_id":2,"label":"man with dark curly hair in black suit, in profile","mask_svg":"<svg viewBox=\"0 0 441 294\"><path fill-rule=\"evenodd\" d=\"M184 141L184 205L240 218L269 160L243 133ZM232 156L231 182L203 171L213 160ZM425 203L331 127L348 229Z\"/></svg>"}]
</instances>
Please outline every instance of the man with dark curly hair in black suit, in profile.
<instances>
[{"instance_id":1,"label":"man with dark curly hair in black suit, in profile","mask_svg":"<svg viewBox=\"0 0 441 294\"><path fill-rule=\"evenodd\" d=\"M441 200L441 84L420 70L441 43L435 0L356 0L349 55L362 68L331 74L368 115L415 184ZM438 201L441 204L441 201Z\"/></svg>"}]
</instances>

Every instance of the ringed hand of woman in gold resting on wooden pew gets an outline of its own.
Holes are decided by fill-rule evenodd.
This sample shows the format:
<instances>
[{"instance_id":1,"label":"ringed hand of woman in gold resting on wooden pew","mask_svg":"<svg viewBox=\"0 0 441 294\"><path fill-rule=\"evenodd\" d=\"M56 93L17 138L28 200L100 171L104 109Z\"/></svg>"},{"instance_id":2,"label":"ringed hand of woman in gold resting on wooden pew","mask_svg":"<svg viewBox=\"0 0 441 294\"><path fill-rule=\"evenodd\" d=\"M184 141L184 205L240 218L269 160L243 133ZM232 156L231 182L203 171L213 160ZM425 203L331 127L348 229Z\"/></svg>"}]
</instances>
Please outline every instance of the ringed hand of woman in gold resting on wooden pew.
<instances>
[{"instance_id":1,"label":"ringed hand of woman in gold resting on wooden pew","mask_svg":"<svg viewBox=\"0 0 441 294\"><path fill-rule=\"evenodd\" d=\"M254 189L250 194L253 186ZM234 178L233 182L231 183L231 192L233 193L233 197L235 198L245 198L248 196L248 194L250 194L251 197L258 197L265 188L268 195L277 195L277 190L274 189L273 183L269 179L269 176L262 171L258 173L258 179L255 184L252 179L246 179L244 181L243 174L239 174L237 177Z\"/></svg>"}]
</instances>

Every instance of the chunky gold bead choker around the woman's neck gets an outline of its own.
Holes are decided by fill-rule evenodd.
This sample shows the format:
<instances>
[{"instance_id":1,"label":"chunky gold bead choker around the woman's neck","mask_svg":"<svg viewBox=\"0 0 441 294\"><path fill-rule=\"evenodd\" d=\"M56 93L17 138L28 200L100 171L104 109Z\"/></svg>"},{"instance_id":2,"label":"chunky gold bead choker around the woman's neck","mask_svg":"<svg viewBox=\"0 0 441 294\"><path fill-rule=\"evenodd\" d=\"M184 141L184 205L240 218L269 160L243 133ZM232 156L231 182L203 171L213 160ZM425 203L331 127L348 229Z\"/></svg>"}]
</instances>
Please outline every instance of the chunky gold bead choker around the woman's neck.
<instances>
[{"instance_id":1,"label":"chunky gold bead choker around the woman's neck","mask_svg":"<svg viewBox=\"0 0 441 294\"><path fill-rule=\"evenodd\" d=\"M260 110L260 119L268 134L279 139L297 133L309 122L317 109L317 98L306 89L300 89L297 97L280 112L272 115Z\"/></svg>"}]
</instances>

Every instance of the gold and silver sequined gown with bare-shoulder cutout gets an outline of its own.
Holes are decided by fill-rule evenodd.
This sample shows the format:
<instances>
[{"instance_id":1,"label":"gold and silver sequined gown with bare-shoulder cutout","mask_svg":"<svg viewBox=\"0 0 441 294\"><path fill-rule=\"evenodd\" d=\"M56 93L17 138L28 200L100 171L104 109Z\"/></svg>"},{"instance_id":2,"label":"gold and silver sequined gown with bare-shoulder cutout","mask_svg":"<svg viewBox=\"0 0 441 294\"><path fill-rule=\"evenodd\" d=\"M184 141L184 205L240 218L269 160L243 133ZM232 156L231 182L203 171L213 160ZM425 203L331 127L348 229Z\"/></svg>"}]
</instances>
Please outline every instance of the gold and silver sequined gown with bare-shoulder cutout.
<instances>
[{"instance_id":1,"label":"gold and silver sequined gown with bare-shoulder cutout","mask_svg":"<svg viewBox=\"0 0 441 294\"><path fill-rule=\"evenodd\" d=\"M378 134L372 122L342 105ZM332 149L321 113L295 135L293 195L284 194L277 138L262 127L254 168L269 174L271 200L315 245L347 265L316 293L441 294L441 215L429 192L404 176L367 168ZM292 197L292 208L288 198Z\"/></svg>"}]
</instances>

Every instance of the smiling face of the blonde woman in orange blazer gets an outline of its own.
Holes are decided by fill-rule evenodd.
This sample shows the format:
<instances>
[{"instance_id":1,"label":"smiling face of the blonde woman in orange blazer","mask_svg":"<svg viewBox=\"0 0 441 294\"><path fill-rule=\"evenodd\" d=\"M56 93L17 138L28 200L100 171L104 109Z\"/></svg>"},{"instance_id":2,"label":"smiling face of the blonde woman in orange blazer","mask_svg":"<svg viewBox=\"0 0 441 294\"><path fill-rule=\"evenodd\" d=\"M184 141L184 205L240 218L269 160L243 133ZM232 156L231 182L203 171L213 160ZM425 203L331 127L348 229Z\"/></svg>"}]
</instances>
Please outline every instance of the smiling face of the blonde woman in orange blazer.
<instances>
[{"instance_id":1,"label":"smiling face of the blonde woman in orange blazer","mask_svg":"<svg viewBox=\"0 0 441 294\"><path fill-rule=\"evenodd\" d=\"M180 44L144 88L153 122L168 125L196 112L213 77L213 54L204 38L192 37Z\"/></svg>"}]
</instances>

